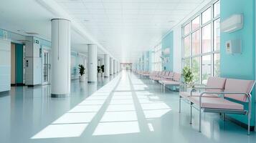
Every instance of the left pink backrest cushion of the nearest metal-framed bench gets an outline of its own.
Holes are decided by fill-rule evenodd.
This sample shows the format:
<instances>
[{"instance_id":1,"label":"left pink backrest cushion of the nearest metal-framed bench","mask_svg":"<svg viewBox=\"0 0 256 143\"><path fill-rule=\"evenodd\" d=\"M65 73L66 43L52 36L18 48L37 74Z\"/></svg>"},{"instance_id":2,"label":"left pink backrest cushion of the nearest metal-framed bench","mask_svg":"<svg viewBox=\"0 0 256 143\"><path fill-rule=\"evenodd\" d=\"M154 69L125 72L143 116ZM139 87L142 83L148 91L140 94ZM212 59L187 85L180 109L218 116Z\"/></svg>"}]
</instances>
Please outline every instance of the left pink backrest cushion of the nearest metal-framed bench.
<instances>
[{"instance_id":1,"label":"left pink backrest cushion of the nearest metal-framed bench","mask_svg":"<svg viewBox=\"0 0 256 143\"><path fill-rule=\"evenodd\" d=\"M218 88L218 89L207 89L207 92L222 92L224 90L226 83L226 78L222 77L209 77L207 80L208 88Z\"/></svg>"}]
</instances>

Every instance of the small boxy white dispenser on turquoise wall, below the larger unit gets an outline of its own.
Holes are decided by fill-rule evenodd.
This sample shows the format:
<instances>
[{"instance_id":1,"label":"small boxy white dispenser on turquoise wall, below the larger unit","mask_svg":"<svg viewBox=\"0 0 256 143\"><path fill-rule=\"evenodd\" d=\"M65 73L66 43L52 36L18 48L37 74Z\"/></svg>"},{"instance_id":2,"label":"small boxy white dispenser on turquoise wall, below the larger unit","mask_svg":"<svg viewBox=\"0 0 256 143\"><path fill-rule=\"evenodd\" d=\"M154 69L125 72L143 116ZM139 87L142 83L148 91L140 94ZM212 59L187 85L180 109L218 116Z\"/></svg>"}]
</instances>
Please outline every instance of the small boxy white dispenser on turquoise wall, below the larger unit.
<instances>
[{"instance_id":1,"label":"small boxy white dispenser on turquoise wall, below the larger unit","mask_svg":"<svg viewBox=\"0 0 256 143\"><path fill-rule=\"evenodd\" d=\"M226 41L227 54L242 54L242 42L240 39Z\"/></svg>"}]
</instances>

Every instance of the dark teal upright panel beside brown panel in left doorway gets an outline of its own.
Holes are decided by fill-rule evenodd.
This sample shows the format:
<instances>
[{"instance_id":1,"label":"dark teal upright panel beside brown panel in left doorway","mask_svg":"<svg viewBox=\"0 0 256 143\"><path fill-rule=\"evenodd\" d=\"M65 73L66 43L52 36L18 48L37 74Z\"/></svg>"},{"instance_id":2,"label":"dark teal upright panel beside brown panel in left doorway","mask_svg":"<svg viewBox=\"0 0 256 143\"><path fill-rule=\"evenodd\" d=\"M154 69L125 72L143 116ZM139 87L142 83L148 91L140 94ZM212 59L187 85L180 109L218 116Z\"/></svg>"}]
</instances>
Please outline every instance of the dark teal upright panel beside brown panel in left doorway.
<instances>
[{"instance_id":1,"label":"dark teal upright panel beside brown panel in left doorway","mask_svg":"<svg viewBox=\"0 0 256 143\"><path fill-rule=\"evenodd\" d=\"M15 44L16 84L23 84L23 44Z\"/></svg>"}]
</instances>

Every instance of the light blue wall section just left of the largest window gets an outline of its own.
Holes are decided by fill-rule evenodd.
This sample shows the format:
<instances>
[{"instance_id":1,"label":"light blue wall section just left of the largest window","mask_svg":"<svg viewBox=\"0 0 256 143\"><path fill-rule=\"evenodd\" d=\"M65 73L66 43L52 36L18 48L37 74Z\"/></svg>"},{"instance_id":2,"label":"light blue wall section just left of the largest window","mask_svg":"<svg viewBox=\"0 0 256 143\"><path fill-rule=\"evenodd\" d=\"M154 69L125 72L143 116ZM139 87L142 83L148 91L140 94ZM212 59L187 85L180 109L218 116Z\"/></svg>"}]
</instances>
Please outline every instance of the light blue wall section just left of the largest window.
<instances>
[{"instance_id":1,"label":"light blue wall section just left of the largest window","mask_svg":"<svg viewBox=\"0 0 256 143\"><path fill-rule=\"evenodd\" d=\"M164 49L169 48L170 54L164 55L165 58L168 58L169 61L162 64L162 69L166 67L166 71L173 71L174 70L174 31L169 32L163 39L161 40L162 51Z\"/></svg>"}]
</instances>

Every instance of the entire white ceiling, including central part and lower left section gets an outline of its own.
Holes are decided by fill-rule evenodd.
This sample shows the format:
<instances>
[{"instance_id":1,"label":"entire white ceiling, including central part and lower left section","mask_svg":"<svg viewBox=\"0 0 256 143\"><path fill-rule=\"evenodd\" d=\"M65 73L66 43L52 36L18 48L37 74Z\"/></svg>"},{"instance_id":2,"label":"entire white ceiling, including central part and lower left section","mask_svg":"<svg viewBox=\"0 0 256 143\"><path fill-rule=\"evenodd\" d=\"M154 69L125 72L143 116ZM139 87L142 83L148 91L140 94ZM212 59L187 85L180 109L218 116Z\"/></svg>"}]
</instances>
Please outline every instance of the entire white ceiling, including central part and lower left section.
<instances>
[{"instance_id":1,"label":"entire white ceiling, including central part and lower left section","mask_svg":"<svg viewBox=\"0 0 256 143\"><path fill-rule=\"evenodd\" d=\"M50 40L50 19L58 16L39 1L52 0L2 1L0 28L22 35L27 35L22 31L36 32L40 38ZM106 49L120 62L133 62L205 0L55 1L89 34L81 35L72 29L72 50L85 53L86 44L98 42L103 46L98 50L100 54Z\"/></svg>"}]
</instances>

